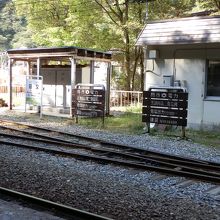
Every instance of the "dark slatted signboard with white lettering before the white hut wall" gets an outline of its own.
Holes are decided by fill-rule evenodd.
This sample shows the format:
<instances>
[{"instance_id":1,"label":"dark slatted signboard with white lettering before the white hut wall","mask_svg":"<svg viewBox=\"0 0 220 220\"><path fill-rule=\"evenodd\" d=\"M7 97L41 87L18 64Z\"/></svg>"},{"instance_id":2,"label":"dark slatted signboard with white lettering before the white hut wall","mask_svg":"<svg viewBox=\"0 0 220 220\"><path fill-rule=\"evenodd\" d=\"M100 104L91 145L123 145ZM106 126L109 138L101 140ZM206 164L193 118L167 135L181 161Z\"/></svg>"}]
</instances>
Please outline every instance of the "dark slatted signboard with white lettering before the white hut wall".
<instances>
[{"instance_id":1,"label":"dark slatted signboard with white lettering before the white hut wall","mask_svg":"<svg viewBox=\"0 0 220 220\"><path fill-rule=\"evenodd\" d=\"M188 93L184 89L152 88L143 92L142 121L150 123L182 126L182 136L185 137L187 126Z\"/></svg>"}]
</instances>

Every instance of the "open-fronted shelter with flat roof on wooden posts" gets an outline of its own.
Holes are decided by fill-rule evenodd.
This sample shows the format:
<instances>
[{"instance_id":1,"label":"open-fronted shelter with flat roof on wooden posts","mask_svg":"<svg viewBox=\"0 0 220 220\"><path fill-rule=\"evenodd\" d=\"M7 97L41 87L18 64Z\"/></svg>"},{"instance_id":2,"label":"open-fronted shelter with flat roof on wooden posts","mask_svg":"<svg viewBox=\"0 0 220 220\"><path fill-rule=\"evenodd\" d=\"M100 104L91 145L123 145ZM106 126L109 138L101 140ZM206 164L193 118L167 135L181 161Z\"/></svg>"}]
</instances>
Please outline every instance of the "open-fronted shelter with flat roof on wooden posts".
<instances>
[{"instance_id":1,"label":"open-fronted shelter with flat roof on wooden posts","mask_svg":"<svg viewBox=\"0 0 220 220\"><path fill-rule=\"evenodd\" d=\"M106 78L106 113L109 113L111 54L79 47L12 49L7 51L9 64L9 107L12 109L13 66L26 63L26 75L43 76L43 97L53 93L54 99L46 104L70 109L72 92L78 83L93 84L95 63L104 63ZM49 97L49 96L48 96ZM51 97L51 96L50 96ZM58 103L59 102L59 103ZM45 103L44 103L45 104Z\"/></svg>"}]
</instances>

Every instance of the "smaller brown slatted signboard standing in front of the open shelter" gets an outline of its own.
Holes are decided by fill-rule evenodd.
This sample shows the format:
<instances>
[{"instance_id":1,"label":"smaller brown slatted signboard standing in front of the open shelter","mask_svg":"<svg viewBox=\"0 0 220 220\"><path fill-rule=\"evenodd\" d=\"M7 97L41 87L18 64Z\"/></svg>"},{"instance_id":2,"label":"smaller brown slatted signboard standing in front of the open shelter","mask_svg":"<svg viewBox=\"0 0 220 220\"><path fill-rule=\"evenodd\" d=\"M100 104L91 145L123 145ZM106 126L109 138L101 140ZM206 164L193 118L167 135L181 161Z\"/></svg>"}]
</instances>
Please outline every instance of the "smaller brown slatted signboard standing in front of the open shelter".
<instances>
[{"instance_id":1,"label":"smaller brown slatted signboard standing in front of the open shelter","mask_svg":"<svg viewBox=\"0 0 220 220\"><path fill-rule=\"evenodd\" d=\"M76 117L105 118L105 87L99 84L78 84L73 90L72 113Z\"/></svg>"}]
</instances>

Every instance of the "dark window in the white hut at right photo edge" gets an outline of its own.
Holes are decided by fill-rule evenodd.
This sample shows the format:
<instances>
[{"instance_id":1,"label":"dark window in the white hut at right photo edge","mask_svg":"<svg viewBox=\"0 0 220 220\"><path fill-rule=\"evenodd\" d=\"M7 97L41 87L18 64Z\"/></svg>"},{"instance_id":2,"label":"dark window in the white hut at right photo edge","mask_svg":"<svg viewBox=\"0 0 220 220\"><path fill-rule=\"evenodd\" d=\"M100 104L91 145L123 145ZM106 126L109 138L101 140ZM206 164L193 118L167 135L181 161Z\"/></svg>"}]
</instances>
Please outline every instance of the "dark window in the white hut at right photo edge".
<instances>
[{"instance_id":1,"label":"dark window in the white hut at right photo edge","mask_svg":"<svg viewBox=\"0 0 220 220\"><path fill-rule=\"evenodd\" d=\"M206 96L220 96L220 61L208 61Z\"/></svg>"}]
</instances>

